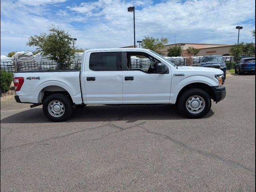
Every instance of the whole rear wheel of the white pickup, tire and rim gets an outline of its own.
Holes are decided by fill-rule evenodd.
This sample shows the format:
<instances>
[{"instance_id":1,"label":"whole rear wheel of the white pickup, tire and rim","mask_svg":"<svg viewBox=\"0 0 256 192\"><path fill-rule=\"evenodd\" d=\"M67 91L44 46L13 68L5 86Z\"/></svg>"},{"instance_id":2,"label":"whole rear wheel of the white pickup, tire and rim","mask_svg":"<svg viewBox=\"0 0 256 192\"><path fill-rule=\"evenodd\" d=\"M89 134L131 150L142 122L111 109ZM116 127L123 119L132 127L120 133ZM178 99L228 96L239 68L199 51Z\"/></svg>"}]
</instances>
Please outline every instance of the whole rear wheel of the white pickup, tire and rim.
<instances>
[{"instance_id":1,"label":"whole rear wheel of the white pickup, tire and rim","mask_svg":"<svg viewBox=\"0 0 256 192\"><path fill-rule=\"evenodd\" d=\"M43 112L51 121L65 121L73 113L72 100L63 94L52 94L44 100Z\"/></svg>"}]
</instances>

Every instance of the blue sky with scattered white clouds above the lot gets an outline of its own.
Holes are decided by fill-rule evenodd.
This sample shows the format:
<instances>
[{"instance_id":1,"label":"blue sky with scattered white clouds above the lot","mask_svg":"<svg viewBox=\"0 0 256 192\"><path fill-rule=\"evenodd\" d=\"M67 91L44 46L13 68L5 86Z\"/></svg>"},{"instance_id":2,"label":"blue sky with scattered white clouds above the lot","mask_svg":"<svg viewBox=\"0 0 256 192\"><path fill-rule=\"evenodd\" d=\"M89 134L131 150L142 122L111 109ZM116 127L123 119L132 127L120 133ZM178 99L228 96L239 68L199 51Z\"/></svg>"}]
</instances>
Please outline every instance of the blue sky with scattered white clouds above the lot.
<instances>
[{"instance_id":1,"label":"blue sky with scattered white clouds above the lot","mask_svg":"<svg viewBox=\"0 0 256 192\"><path fill-rule=\"evenodd\" d=\"M135 6L136 41L144 36L166 37L174 43L234 44L252 42L254 0L1 0L1 55L34 50L29 36L54 24L77 38L79 48L116 48L133 44Z\"/></svg>"}]
</instances>

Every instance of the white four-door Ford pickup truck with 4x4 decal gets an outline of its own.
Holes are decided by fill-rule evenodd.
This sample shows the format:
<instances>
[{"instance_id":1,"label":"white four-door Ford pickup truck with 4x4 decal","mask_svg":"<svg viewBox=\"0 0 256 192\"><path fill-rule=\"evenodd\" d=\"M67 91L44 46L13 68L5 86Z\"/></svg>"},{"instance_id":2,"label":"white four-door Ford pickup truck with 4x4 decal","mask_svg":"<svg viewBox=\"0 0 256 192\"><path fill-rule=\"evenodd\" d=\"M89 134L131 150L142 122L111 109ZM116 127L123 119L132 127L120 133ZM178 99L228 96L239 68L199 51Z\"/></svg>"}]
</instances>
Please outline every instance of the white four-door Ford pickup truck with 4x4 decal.
<instances>
[{"instance_id":1,"label":"white four-door Ford pickup truck with 4x4 decal","mask_svg":"<svg viewBox=\"0 0 256 192\"><path fill-rule=\"evenodd\" d=\"M141 48L92 49L83 54L81 70L16 72L15 99L43 104L52 121L64 121L87 104L177 104L182 115L201 118L211 99L226 96L223 71L177 66Z\"/></svg>"}]
</instances>

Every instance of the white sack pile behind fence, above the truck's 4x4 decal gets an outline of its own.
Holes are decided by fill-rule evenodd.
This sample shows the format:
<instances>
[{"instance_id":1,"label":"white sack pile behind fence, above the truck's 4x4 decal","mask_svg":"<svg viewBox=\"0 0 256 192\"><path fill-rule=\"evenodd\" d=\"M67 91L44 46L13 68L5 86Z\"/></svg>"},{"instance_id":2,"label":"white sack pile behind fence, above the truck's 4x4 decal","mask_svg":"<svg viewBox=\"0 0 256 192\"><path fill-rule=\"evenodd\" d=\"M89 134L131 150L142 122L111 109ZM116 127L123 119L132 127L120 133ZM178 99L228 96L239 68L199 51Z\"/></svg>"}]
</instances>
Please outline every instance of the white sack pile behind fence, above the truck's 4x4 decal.
<instances>
[{"instance_id":1,"label":"white sack pile behind fence, above the truck's 4x4 decal","mask_svg":"<svg viewBox=\"0 0 256 192\"><path fill-rule=\"evenodd\" d=\"M18 71L30 71L38 69L35 57L32 52L16 52L14 54L14 62L18 67Z\"/></svg>"}]
</instances>

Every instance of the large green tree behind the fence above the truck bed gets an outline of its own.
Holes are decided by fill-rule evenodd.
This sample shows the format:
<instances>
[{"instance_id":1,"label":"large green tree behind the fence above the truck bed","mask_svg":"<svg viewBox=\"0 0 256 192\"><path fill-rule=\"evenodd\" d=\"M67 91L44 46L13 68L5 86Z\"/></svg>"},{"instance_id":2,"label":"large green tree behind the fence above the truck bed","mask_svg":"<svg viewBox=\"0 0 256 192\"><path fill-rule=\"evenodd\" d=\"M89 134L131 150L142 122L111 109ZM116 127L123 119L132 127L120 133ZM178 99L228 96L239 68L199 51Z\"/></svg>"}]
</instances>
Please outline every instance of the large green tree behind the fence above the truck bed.
<instances>
[{"instance_id":1,"label":"large green tree behind the fence above the truck bed","mask_svg":"<svg viewBox=\"0 0 256 192\"><path fill-rule=\"evenodd\" d=\"M74 57L71 35L54 25L48 27L48 33L41 33L28 38L27 46L36 46L43 55L50 55L50 59L60 63L69 63ZM63 68L68 68L65 64Z\"/></svg>"}]
</instances>

